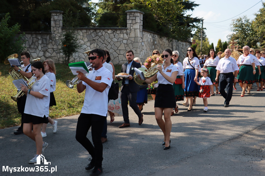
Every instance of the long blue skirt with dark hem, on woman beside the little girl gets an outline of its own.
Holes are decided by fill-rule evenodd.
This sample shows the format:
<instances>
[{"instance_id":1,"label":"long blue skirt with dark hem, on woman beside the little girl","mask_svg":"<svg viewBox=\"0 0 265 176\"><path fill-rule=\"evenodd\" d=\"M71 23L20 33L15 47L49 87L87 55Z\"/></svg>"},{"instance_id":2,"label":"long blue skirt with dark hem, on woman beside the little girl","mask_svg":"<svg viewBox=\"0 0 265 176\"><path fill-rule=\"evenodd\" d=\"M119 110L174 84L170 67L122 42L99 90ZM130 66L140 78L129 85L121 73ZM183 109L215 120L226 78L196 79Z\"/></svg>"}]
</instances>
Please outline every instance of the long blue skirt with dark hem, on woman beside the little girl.
<instances>
[{"instance_id":1,"label":"long blue skirt with dark hem, on woman beside the little girl","mask_svg":"<svg viewBox=\"0 0 265 176\"><path fill-rule=\"evenodd\" d=\"M196 75L194 69L186 69L184 72L185 75L185 97L189 96L199 96L199 86L194 81L194 77ZM197 77L198 78L198 77Z\"/></svg>"}]
</instances>

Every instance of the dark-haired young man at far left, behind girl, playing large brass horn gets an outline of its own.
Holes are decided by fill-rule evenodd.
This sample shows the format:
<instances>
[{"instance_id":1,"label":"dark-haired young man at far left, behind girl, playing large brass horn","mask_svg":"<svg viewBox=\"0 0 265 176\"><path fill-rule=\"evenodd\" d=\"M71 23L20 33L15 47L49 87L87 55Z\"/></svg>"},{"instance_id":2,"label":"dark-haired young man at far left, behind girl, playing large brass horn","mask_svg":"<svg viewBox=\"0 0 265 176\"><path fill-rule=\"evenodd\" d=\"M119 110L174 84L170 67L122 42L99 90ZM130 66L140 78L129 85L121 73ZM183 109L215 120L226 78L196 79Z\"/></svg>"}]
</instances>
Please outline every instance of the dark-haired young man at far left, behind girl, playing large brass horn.
<instances>
[{"instance_id":1,"label":"dark-haired young man at far left, behind girl, playing large brass horn","mask_svg":"<svg viewBox=\"0 0 265 176\"><path fill-rule=\"evenodd\" d=\"M21 61L23 61L23 65L21 65L21 69L19 67L12 65L14 69L19 72L21 75L27 77L28 79L32 77L31 72L31 64L29 63L30 60L30 54L28 52L22 52L20 54ZM17 89L19 91L20 89ZM17 98L17 109L21 113L21 121L24 116L24 109L26 104L27 96L23 95L20 98ZM23 123L21 123L21 126L17 129L17 131L14 132L15 135L23 134Z\"/></svg>"}]
</instances>

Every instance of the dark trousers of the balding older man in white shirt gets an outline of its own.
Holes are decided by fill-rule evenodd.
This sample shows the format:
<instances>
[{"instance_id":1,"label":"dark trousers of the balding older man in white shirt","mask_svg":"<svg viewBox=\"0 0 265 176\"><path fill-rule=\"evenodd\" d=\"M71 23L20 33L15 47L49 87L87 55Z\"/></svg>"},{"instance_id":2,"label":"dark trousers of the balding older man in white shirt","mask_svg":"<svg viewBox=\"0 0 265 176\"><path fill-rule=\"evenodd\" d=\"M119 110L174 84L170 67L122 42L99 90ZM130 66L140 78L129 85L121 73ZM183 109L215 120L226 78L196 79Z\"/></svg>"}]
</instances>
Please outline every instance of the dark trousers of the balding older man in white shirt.
<instances>
[{"instance_id":1,"label":"dark trousers of the balding older man in white shirt","mask_svg":"<svg viewBox=\"0 0 265 176\"><path fill-rule=\"evenodd\" d=\"M233 73L228 75L223 75L222 73L219 76L219 92L225 98L224 104L229 104L232 94L233 94L233 83L234 75ZM227 92L224 90L227 89Z\"/></svg>"}]
</instances>

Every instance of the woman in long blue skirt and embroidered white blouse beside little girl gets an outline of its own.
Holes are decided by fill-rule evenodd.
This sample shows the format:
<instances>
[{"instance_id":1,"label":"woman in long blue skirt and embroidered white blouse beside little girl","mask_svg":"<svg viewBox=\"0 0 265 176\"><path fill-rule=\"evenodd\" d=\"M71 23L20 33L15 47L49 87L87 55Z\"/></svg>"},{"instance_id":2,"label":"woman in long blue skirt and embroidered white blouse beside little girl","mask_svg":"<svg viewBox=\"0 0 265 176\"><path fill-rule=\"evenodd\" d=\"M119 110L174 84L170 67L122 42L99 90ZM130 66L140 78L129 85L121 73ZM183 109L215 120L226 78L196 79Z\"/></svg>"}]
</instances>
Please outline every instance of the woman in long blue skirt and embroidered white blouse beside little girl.
<instances>
[{"instance_id":1,"label":"woman in long blue skirt and embroidered white blouse beside little girl","mask_svg":"<svg viewBox=\"0 0 265 176\"><path fill-rule=\"evenodd\" d=\"M198 81L198 73L201 69L200 61L194 50L194 48L189 47L187 50L187 57L183 60L183 68L185 74L185 97L190 100L188 111L192 110L193 97L199 95L199 86L195 81Z\"/></svg>"}]
</instances>

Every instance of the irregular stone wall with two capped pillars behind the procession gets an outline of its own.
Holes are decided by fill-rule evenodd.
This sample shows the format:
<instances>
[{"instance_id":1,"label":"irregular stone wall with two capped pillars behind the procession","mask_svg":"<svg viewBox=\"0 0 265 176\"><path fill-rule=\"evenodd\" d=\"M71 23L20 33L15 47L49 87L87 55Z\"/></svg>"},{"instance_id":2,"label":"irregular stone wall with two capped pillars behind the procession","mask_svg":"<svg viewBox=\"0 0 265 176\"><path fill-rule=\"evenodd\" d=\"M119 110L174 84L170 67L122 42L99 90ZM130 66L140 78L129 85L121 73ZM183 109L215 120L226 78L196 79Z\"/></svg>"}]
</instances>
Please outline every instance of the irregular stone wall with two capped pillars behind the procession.
<instances>
[{"instance_id":1,"label":"irregular stone wall with two capped pillars behind the procession","mask_svg":"<svg viewBox=\"0 0 265 176\"><path fill-rule=\"evenodd\" d=\"M63 11L51 12L51 32L28 32L24 34L25 47L31 54L32 59L41 58L41 61L52 59L54 62L62 62L63 54L59 48L60 37L64 31ZM100 48L108 50L113 64L126 62L126 51L133 50L134 56L139 57L142 62L152 54L154 49L160 52L166 48L178 50L179 60L183 61L186 51L191 42L177 41L160 36L152 31L143 29L143 12L137 10L126 11L127 27L112 28L75 28L80 36L82 48L71 58L71 62L88 61L87 54L83 52Z\"/></svg>"}]
</instances>

